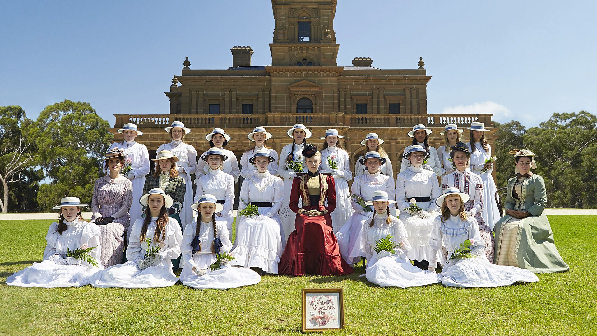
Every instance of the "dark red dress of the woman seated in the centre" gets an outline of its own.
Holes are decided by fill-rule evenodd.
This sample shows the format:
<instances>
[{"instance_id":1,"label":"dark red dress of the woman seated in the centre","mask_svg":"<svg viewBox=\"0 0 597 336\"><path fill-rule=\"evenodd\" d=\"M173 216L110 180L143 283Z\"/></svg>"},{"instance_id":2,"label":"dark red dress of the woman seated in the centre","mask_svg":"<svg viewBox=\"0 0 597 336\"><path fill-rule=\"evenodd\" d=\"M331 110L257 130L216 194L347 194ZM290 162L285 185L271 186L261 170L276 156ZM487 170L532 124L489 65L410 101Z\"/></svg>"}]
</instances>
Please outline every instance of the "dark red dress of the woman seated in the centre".
<instances>
[{"instance_id":1,"label":"dark red dress of the woman seated in the centre","mask_svg":"<svg viewBox=\"0 0 597 336\"><path fill-rule=\"evenodd\" d=\"M318 274L340 276L353 273L352 267L340 255L338 242L332 230L330 212L336 209L336 187L331 176L319 174L319 197L309 197L307 179L303 175L294 178L290 194L290 209L296 212L294 230L288 237L284 253L278 264L278 274L302 276ZM302 209L328 210L322 216L305 216L298 213L298 197L303 200ZM328 207L325 207L325 199ZM317 201L317 203L315 203ZM312 204L315 203L315 204Z\"/></svg>"}]
</instances>

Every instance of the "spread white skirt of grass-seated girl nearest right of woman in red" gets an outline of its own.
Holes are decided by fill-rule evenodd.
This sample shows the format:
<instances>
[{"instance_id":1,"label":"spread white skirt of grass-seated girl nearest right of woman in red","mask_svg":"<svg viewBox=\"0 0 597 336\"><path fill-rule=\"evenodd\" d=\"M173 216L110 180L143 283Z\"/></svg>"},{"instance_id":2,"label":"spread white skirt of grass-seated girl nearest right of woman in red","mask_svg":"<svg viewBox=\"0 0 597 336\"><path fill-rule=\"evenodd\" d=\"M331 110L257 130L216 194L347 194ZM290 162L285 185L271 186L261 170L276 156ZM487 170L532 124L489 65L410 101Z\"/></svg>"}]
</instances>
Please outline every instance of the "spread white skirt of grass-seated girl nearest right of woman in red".
<instances>
[{"instance_id":1,"label":"spread white skirt of grass-seated girl nearest right of woman in red","mask_svg":"<svg viewBox=\"0 0 597 336\"><path fill-rule=\"evenodd\" d=\"M407 256L392 255L390 252L375 253L367 264L365 276L380 287L416 287L440 283L435 272L424 271L413 266Z\"/></svg>"}]
</instances>

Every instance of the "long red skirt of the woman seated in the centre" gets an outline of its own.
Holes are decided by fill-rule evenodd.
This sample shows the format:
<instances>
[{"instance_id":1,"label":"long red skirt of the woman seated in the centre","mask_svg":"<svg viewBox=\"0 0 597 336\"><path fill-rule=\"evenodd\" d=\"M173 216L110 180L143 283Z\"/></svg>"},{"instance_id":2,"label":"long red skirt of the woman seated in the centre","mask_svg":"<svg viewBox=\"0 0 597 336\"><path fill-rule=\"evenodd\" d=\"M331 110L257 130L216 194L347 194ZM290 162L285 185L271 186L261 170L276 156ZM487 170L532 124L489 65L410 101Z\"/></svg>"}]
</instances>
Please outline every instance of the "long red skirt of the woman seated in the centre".
<instances>
[{"instance_id":1,"label":"long red skirt of the woman seated in the centre","mask_svg":"<svg viewBox=\"0 0 597 336\"><path fill-rule=\"evenodd\" d=\"M332 230L330 215L304 216L297 214L294 230L288 236L284 253L278 263L278 274L303 276L341 276L354 271L342 259Z\"/></svg>"}]
</instances>

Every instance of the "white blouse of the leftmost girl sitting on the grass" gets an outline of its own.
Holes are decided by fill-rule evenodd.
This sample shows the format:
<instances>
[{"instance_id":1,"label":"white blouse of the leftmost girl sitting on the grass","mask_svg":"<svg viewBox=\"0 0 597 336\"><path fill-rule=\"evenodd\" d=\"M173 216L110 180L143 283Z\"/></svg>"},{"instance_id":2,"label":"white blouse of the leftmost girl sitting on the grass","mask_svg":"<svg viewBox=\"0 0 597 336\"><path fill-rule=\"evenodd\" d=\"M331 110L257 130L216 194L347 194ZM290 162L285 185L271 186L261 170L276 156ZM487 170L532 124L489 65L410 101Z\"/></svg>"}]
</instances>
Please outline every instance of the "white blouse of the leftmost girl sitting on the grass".
<instances>
[{"instance_id":1,"label":"white blouse of the leftmost girl sitting on the grass","mask_svg":"<svg viewBox=\"0 0 597 336\"><path fill-rule=\"evenodd\" d=\"M65 219L64 224L66 224L66 230L62 231L62 234L58 233L57 222L53 222L48 228L48 234L45 236L48 244L45 246L44 260L50 259L55 254L66 258L67 249L73 251L87 244L90 248L97 246L89 252L89 255L99 262L101 255L100 228L94 223L82 221L79 218L75 218L72 222Z\"/></svg>"}]
</instances>

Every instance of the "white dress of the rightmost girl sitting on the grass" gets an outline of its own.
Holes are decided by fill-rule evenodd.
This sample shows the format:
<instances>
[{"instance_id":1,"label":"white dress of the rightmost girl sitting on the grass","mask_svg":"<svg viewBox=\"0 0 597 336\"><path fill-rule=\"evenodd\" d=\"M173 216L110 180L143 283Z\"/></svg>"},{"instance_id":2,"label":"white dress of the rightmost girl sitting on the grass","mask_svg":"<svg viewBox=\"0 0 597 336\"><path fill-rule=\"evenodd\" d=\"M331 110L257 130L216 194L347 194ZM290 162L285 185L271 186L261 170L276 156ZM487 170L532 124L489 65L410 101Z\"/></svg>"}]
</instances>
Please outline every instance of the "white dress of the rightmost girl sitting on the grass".
<instances>
[{"instance_id":1,"label":"white dress of the rightmost girl sitting on the grass","mask_svg":"<svg viewBox=\"0 0 597 336\"><path fill-rule=\"evenodd\" d=\"M450 259L454 249L459 248L460 243L467 239L474 240L470 253L475 257ZM436 217L429 245L433 249L439 249L442 243L448 250L448 260L440 274L440 279L446 286L497 287L539 280L531 271L491 264L485 256L484 243L474 218L463 220L459 216L450 216L442 221L441 216Z\"/></svg>"}]
</instances>

